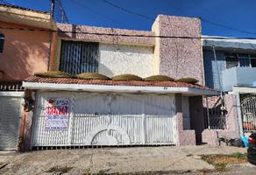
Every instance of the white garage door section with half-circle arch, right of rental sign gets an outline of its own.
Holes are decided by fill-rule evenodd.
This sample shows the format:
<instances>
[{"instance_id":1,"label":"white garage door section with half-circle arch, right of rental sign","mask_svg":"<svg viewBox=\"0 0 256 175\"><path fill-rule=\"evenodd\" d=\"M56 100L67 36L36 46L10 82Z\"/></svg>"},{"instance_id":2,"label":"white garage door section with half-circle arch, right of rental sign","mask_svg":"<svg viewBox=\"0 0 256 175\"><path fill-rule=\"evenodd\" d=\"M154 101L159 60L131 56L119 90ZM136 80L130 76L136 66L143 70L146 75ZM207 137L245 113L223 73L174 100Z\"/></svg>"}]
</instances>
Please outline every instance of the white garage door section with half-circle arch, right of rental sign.
<instances>
[{"instance_id":1,"label":"white garage door section with half-circle arch, right of rental sign","mask_svg":"<svg viewBox=\"0 0 256 175\"><path fill-rule=\"evenodd\" d=\"M74 145L175 144L172 95L75 94Z\"/></svg>"}]
</instances>

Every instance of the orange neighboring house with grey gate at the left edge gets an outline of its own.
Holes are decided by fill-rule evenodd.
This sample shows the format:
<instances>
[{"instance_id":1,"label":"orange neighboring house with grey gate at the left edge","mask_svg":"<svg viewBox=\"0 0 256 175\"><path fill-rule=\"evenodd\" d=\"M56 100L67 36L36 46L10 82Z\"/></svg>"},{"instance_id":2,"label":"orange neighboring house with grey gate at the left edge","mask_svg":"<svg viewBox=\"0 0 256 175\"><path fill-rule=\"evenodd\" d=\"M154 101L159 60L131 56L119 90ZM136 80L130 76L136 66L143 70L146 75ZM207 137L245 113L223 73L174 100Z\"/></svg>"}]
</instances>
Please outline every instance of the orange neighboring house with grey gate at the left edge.
<instances>
[{"instance_id":1,"label":"orange neighboring house with grey gate at the left edge","mask_svg":"<svg viewBox=\"0 0 256 175\"><path fill-rule=\"evenodd\" d=\"M53 28L47 12L0 5L0 150L18 148L21 84L33 73L49 70Z\"/></svg>"}]
</instances>

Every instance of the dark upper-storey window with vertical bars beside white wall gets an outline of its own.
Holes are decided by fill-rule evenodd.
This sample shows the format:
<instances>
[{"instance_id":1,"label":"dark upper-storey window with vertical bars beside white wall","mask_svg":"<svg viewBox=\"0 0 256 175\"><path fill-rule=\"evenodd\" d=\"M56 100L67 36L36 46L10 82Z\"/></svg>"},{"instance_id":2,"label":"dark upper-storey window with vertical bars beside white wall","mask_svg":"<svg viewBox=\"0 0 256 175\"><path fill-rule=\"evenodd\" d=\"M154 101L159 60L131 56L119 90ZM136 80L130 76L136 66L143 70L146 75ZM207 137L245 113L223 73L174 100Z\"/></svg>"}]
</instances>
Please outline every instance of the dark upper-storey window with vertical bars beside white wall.
<instances>
[{"instance_id":1,"label":"dark upper-storey window with vertical bars beside white wall","mask_svg":"<svg viewBox=\"0 0 256 175\"><path fill-rule=\"evenodd\" d=\"M81 41L61 42L60 71L77 73L97 73L99 44Z\"/></svg>"}]
</instances>

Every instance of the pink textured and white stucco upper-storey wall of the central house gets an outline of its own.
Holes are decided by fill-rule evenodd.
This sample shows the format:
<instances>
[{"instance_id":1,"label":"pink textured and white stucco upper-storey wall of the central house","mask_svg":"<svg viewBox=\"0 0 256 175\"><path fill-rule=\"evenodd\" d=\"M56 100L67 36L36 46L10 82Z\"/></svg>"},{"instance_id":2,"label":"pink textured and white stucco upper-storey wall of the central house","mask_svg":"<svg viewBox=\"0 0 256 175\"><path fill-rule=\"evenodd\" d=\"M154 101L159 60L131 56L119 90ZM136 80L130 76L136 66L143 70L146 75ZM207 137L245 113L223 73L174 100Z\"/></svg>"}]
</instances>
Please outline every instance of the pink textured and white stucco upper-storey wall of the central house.
<instances>
[{"instance_id":1,"label":"pink textured and white stucco upper-storey wall of the central house","mask_svg":"<svg viewBox=\"0 0 256 175\"><path fill-rule=\"evenodd\" d=\"M58 28L60 31L88 32L87 34L59 32L60 38L101 44L100 73L108 76L117 73L135 73L142 77L166 74L175 79L193 77L200 84L204 83L199 18L159 15L153 24L152 31L65 24L58 24ZM89 34L97 32L107 33L107 35ZM112 36L112 34L119 36ZM120 35L132 35L132 37ZM136 35L145 37L136 37ZM195 38L153 38L154 35ZM57 60L56 63L58 62Z\"/></svg>"}]
</instances>

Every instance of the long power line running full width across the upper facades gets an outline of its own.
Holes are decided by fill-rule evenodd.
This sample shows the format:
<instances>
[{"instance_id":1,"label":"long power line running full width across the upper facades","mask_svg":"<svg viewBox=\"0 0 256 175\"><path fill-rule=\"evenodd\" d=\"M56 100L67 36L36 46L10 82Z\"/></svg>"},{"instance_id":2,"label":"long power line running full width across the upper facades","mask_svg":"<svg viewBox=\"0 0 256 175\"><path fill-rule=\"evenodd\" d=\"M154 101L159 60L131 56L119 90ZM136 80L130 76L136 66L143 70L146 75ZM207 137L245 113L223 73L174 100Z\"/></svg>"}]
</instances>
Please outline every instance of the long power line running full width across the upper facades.
<instances>
[{"instance_id":1,"label":"long power line running full width across the upper facades","mask_svg":"<svg viewBox=\"0 0 256 175\"><path fill-rule=\"evenodd\" d=\"M53 31L46 29L30 29L30 28L13 28L13 27L2 27L0 29L3 30L18 30L18 31L51 31L58 33L70 33L70 34L87 34L87 35L97 35L97 36L113 36L113 37L137 37L137 38L200 38L200 39L223 39L223 40L234 40L234 39L252 39L256 40L256 38L223 38L223 37L187 37L187 36L162 36L162 35L143 35L143 34L119 34L119 33L104 33L104 32L88 32L88 31Z\"/></svg>"}]
</instances>

